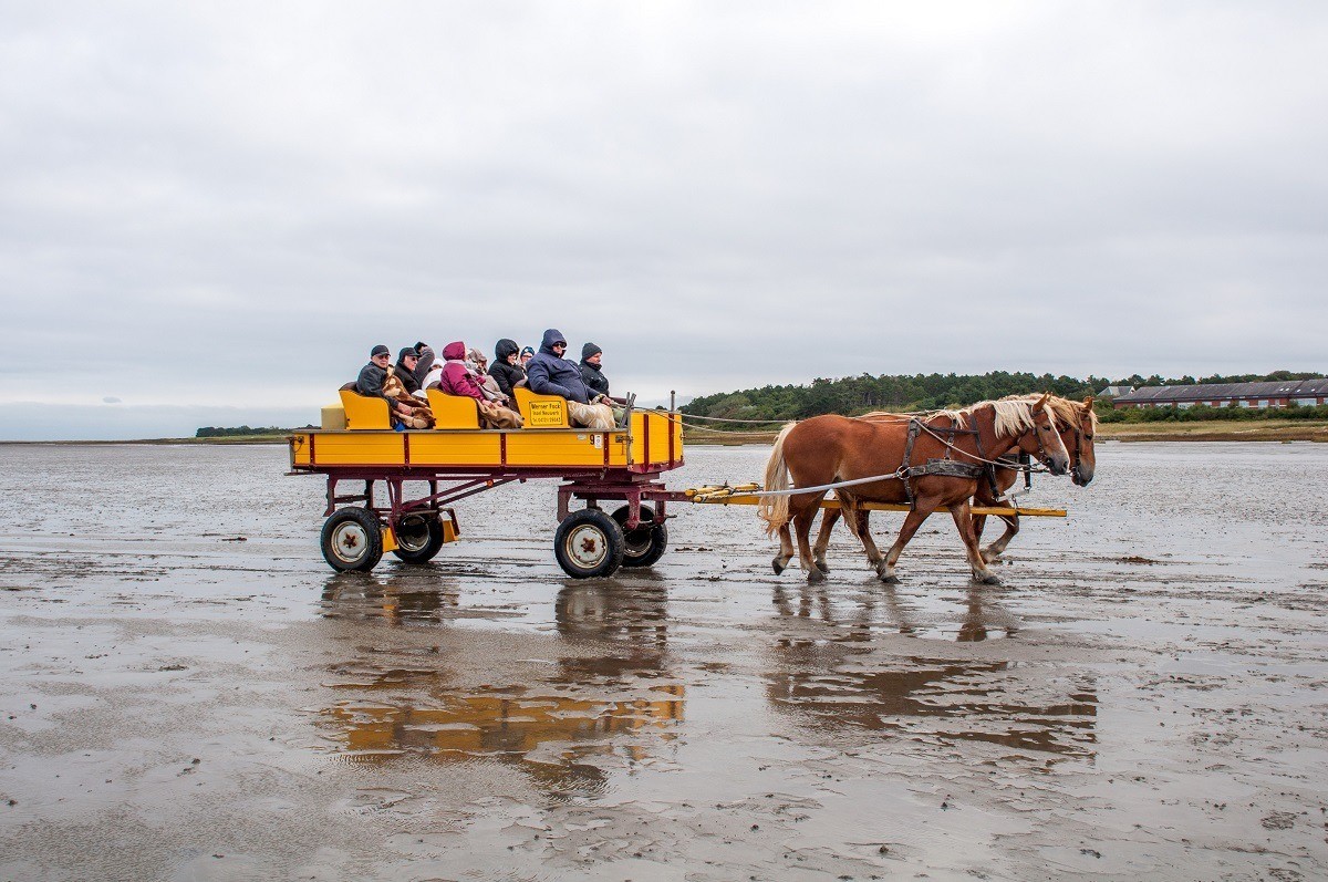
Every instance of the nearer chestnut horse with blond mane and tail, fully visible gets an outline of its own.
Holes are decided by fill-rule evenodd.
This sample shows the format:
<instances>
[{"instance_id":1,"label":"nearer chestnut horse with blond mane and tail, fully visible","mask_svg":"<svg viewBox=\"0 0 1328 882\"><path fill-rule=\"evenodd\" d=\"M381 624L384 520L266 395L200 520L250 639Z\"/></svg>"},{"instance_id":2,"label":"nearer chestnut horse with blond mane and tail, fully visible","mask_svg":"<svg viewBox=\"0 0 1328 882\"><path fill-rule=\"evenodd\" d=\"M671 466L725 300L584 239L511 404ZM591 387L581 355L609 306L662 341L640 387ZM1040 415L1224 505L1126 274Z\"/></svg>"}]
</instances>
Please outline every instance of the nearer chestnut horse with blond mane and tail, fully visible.
<instances>
[{"instance_id":1,"label":"nearer chestnut horse with blond mane and tail, fully visible","mask_svg":"<svg viewBox=\"0 0 1328 882\"><path fill-rule=\"evenodd\" d=\"M987 569L977 550L969 499L977 491L979 466L1016 446L1036 454L1052 474L1065 474L1069 454L1045 406L1048 397L1037 402L983 401L926 420L872 422L821 416L785 426L766 462L765 489L785 490L791 476L794 485L807 491L765 497L761 502L760 517L766 530L780 534L774 571L784 573L793 558L791 521L798 530L798 561L807 570L807 580L822 582L825 573L813 559L807 533L827 491L823 485L879 476L878 481L838 487L835 495L853 523L859 522L855 517L859 502L911 503L888 555L876 550L870 533L859 534L883 582L898 582L895 563L922 522L936 509L948 509L973 579L999 584L1000 579Z\"/></svg>"}]
</instances>

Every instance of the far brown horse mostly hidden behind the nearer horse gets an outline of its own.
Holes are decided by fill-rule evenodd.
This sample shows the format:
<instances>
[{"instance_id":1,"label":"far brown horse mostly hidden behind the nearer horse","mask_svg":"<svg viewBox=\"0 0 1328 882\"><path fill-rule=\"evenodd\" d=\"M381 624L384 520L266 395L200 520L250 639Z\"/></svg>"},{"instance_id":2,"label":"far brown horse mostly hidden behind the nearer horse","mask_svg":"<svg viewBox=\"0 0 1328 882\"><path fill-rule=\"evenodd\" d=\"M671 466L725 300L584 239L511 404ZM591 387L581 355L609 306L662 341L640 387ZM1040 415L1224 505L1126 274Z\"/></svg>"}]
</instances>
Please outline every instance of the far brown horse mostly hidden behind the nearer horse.
<instances>
[{"instance_id":1,"label":"far brown horse mostly hidden behind the nearer horse","mask_svg":"<svg viewBox=\"0 0 1328 882\"><path fill-rule=\"evenodd\" d=\"M1038 401L1038 397L1040 396L1037 395L1023 395L1007 396L1003 400L1028 401L1029 404L1033 404ZM1056 417L1056 428L1060 430L1061 442L1065 445L1065 449L1070 456L1072 480L1077 486L1088 486L1093 480L1093 472L1097 466L1097 457L1093 450L1093 436L1097 432L1097 414L1093 413L1093 396L1084 398L1082 404L1078 401L1070 401L1069 398L1050 396L1046 400L1046 406ZM900 420L908 420L910 417L908 414L876 410L858 418L874 422L898 422ZM977 493L973 495L975 505L1000 505L1001 497L1004 497L1004 494L1015 486L1015 482L1019 480L1021 469L1017 468L1017 464L1012 457L1001 457L1000 462L1007 465L992 466L992 480L987 480L984 477L977 482ZM995 487L992 487L992 484L995 484ZM825 514L821 517L821 531L817 534L815 545L811 546L811 557L822 573L830 571L826 566L826 550L830 546L830 534L834 530L834 525L838 522L839 515L839 509L825 510ZM870 517L871 511L869 509L857 509L855 515L846 517L845 522L849 525L849 530L855 537L861 538L862 533L869 529L867 522ZM993 517L999 517L1005 523L1005 533L981 550L983 561L987 563L999 558L1001 553L1005 551L1007 546L1009 546L1011 539L1013 539L1019 533L1017 514L999 514ZM981 542L983 527L985 523L985 514L973 515L973 535L979 539L979 542ZM866 551L866 543L863 543L863 550Z\"/></svg>"}]
</instances>

